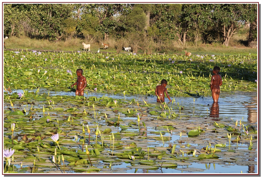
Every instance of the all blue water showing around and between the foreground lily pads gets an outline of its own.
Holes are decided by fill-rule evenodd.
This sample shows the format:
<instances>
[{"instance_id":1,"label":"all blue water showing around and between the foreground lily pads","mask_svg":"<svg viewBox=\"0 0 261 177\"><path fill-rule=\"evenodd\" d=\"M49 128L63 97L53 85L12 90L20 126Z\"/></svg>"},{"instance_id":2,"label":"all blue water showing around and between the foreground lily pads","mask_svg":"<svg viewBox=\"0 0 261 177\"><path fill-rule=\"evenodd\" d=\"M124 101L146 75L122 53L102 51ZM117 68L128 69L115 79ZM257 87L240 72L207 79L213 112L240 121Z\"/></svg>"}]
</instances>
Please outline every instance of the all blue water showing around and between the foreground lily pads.
<instances>
[{"instance_id":1,"label":"all blue water showing around and between the foreground lily pads","mask_svg":"<svg viewBox=\"0 0 261 177\"><path fill-rule=\"evenodd\" d=\"M32 91L35 92L36 90L32 90ZM14 90L13 92L16 92L16 90ZM17 92L23 93L23 90L17 90ZM40 89L39 94L43 94L43 93L49 93L50 96L65 96L65 95L66 96L75 96L75 92L63 92L63 91L52 91L52 90L47 90L47 89ZM88 95L85 93L86 98L87 98L87 96L88 97L96 96L97 98L101 98L103 96L108 96L113 99L121 99L121 100L123 99L123 94L117 94L117 95L109 94L108 95L108 94L104 94L104 93L89 92L89 91L88 91ZM155 95L149 95L149 96L125 95L125 100L127 102L131 102L131 100L133 98L136 101L138 100L139 103L142 103L142 104L143 104L143 99L144 99L148 104L152 105L152 109L153 109L153 107L157 107L160 105L160 103L155 102L156 101ZM211 123L213 123L214 121L223 120L223 121L230 122L231 124L233 124L233 121L235 122L236 120L240 120L240 119L244 118L244 123L248 122L249 124L253 124L253 125L257 124L257 93L256 92L252 92L252 93L236 92L235 94L221 93L218 104L213 104L212 97L198 97L198 98L195 98L195 102L194 102L194 97L174 97L174 98L175 98L175 103L173 103L173 105L181 108L180 112L179 112L179 110L175 110L175 113L177 115L181 114L181 117L179 117L179 120L181 121L180 124L184 125L186 123L187 124L191 123L192 125L194 125L194 124L199 124L200 122L204 122L203 125L200 125L200 126L201 127L205 126L204 128L206 131L206 135L204 136L204 134L203 135L200 134L199 139L195 139L195 140L188 137L188 135L185 133L182 133L182 137L181 137L180 131L182 129L179 127L178 124L176 125L175 130L173 130L173 133L168 133L166 130L163 131L160 128L160 126L157 127L158 125L160 125L160 123L162 123L161 120L157 120L157 119L155 119L155 117L152 117L152 116L150 117L148 115L147 117L143 118L144 121L146 119L145 122L146 122L147 129L141 131L140 137L143 137L143 136L160 137L159 134L154 134L153 132L161 130L162 132L164 132L164 137L170 136L170 141L165 140L164 144L162 143L161 139L155 139L155 138L142 139L142 140L140 140L139 138L135 138L134 140L131 140L131 141L137 142L137 145L139 145L139 147L143 147L143 148L145 148L145 147L154 148L155 147L156 149L159 149L159 151L161 149L168 147L170 144L177 144L175 152L177 151L178 157L181 158L182 153L180 153L179 151L187 150L188 143L190 145L189 146L190 148L197 149L198 152L200 152L200 150L203 147L206 147L206 145L208 144L210 139L213 138L213 137L211 137L212 134L208 130L207 126L210 126ZM172 103L168 103L168 105L171 106ZM7 104L5 103L4 108L7 108L7 107L9 107L9 106L7 106ZM26 104L21 105L21 107L26 107ZM42 108L42 106L39 106L39 107ZM131 106L130 106L130 108L131 108ZM143 107L142 109L144 110L145 108ZM99 111L102 112L102 110L99 110ZM37 115L41 115L42 113L43 112L37 112ZM50 114L51 114L51 112L50 112ZM60 115L58 115L58 113L55 113L55 112L53 112L52 115L55 115L55 114L57 114L58 117L60 116ZM115 116L117 114L115 113ZM62 114L62 116L64 116L64 114ZM62 117L62 116L60 116L60 117ZM111 117L113 117L113 116L114 115L111 115ZM233 121L230 118L232 118ZM34 120L36 120L36 119L34 119ZM137 117L126 115L126 117L124 117L123 120L124 120L124 125L127 125L128 122L130 122L130 121L137 121ZM151 122L149 123L149 121L154 121L154 123L151 123ZM168 120L167 124L169 125L175 121L178 121L178 120L177 119ZM105 119L100 120L98 122L99 122L99 124L101 124L102 126L104 126L106 128L110 127L112 129L112 132L114 132L114 133L121 131L121 128L119 128L118 126L116 127L115 125L107 125L105 123ZM95 124L96 124L96 121L89 123L89 126L95 125ZM206 125L206 124L208 124L208 125ZM140 125L142 125L142 124L140 123ZM66 124L63 124L63 126L65 127ZM75 126L72 126L72 127L75 127ZM80 130L78 129L77 131L80 131ZM137 131L137 128L136 129L128 128L126 131ZM21 132L17 132L17 133L21 133ZM121 141L129 142L130 136L123 136ZM81 136L79 136L79 139L80 138L81 138ZM224 153L225 155L224 154L221 155L221 157L218 160L217 159L213 159L213 160L204 159L204 160L199 161L199 160L195 160L195 159L191 160L189 158L189 159L185 160L185 162L189 163L189 165L178 164L177 167L164 167L164 168L158 168L158 169L154 170L154 169L128 168L128 166L131 166L130 161L125 161L124 159L121 159L122 161L117 163L116 165L112 164L111 170L110 170L110 169L108 169L108 163L103 162L101 159L101 160L96 160L97 161L96 167L101 169L99 174L100 173L129 173L129 174L132 174L132 173L133 174L134 173L164 173L164 174L236 173L236 174L239 174L239 173L241 173L241 171L242 171L242 173L257 173L257 158L254 158L256 156L256 149L254 149L253 152L248 151L249 140L247 138L249 139L249 137L246 137L246 138L244 138L244 140L242 140L241 143L238 143L238 145L236 143L234 143L230 147L231 149L235 150L234 153L236 153L236 154L240 153L238 156L239 156L239 158L242 158L242 159L237 159L238 161L240 161L240 163L236 163L236 161L233 159L233 157L226 159L226 153L228 153L228 150L229 150L228 140L224 140L223 135L218 134L218 132L217 132L217 135L215 134L214 140L211 140L211 142L216 142L216 143L225 142L225 144L227 143L227 147L222 149L222 151L221 151L221 153ZM72 140L75 141L75 138L72 137ZM145 143L145 145L143 146L142 143ZM71 145L69 145L69 147L70 146ZM255 144L255 147L256 146L257 145ZM211 147L213 147L213 144L211 145ZM81 148L81 145L73 146L70 148L76 148L77 150L79 150L79 148ZM106 156L106 154L107 155L109 154L109 153L106 153L106 151L107 152L110 151L110 148L104 148L104 151L105 151L105 153L103 153L103 154ZM84 150L84 152L85 152L85 150ZM203 152L201 152L201 153L203 153ZM252 157L252 155L250 153L253 153L253 156L254 156L253 158L250 158L250 157ZM244 155L246 155L247 157L245 158ZM37 154L36 154L36 156L37 156ZM228 156L232 156L232 155L229 154ZM147 157L147 156L145 156L145 157ZM192 154L184 153L184 158L185 157L192 157ZM248 158L249 158L249 160L247 160ZM155 158L153 158L153 159L155 159ZM229 159L231 159L231 160L229 160ZM164 160L168 161L169 159L167 159L167 158L160 159L160 162L157 164L161 165L161 161L164 162ZM244 165L244 163L242 163L241 161L248 161L248 162L253 161L253 162L248 163L248 165ZM65 163L66 163L66 165L69 164L69 162L65 162ZM26 167L26 165L25 165L25 167ZM104 171L104 169L105 169L104 167L106 167L105 171ZM16 165L16 168L20 168L20 166ZM193 171L194 168L197 170ZM62 169L62 167L61 167L61 169ZM121 169L121 170L116 170L116 169ZM198 171L198 169L200 169L200 171ZM51 173L50 170L46 170L43 172ZM79 172L77 172L77 171L75 172L73 170L66 170L66 173L79 173ZM83 172L83 173L85 173L85 172Z\"/></svg>"}]
</instances>

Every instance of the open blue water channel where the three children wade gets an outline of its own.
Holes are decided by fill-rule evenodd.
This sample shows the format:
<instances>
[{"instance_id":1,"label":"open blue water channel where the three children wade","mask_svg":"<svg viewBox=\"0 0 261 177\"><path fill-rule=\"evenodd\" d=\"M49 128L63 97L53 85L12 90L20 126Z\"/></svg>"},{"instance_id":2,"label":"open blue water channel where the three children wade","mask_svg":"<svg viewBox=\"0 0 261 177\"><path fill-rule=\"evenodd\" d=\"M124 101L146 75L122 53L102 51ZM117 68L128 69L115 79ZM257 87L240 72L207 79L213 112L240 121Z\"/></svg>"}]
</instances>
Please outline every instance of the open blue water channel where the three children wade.
<instances>
[{"instance_id":1,"label":"open blue water channel where the three children wade","mask_svg":"<svg viewBox=\"0 0 261 177\"><path fill-rule=\"evenodd\" d=\"M31 91L31 90L29 90ZM32 90L35 92L36 90ZM14 90L16 92L16 90ZM17 90L17 92L23 93L23 90ZM75 96L75 92L64 92L64 91L52 91L47 89L40 89L39 94L48 93L51 96ZM108 96L114 99L123 99L123 94L108 94L99 92L86 92L85 97L101 98L102 96ZM156 96L150 95L125 95L125 100L130 101L131 99L143 102L143 99L150 104L156 103ZM174 97L176 104L179 104L183 110L182 113L188 116L205 116L208 115L213 119L221 118L232 118L234 121L237 119L244 119L250 123L257 122L257 93L256 92L236 92L235 94L221 93L218 100L218 104L213 103L212 97ZM165 98L166 101L167 98ZM171 97L172 99L172 97ZM194 102L195 99L195 102ZM177 112L176 112L177 114ZM128 117L129 119L136 119Z\"/></svg>"}]
</instances>

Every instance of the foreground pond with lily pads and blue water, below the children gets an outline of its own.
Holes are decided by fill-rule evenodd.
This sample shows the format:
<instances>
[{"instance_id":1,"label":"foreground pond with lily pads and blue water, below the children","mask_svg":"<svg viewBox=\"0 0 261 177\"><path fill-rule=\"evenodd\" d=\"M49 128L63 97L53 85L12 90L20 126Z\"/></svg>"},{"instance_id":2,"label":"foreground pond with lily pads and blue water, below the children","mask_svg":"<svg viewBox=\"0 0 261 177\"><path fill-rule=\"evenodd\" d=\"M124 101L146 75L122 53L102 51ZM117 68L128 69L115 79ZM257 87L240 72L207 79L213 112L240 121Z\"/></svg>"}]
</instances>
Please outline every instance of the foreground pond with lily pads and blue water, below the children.
<instances>
[{"instance_id":1,"label":"foreground pond with lily pads and blue water, below the children","mask_svg":"<svg viewBox=\"0 0 261 177\"><path fill-rule=\"evenodd\" d=\"M35 89L28 90L20 99L15 92L11 93L14 108L7 93L3 93L4 143L15 149L15 163L10 165L10 171L14 168L18 173L31 173L32 169L34 173L257 173L257 92L221 93L218 104L213 104L212 97L174 97L175 102L165 107L155 102L155 95L87 91L85 97L75 97L75 92ZM12 115L13 109L23 111L23 115ZM16 123L17 128L14 145L11 123ZM90 128L90 142L86 125ZM199 134L188 136L192 130ZM60 134L61 150L50 138L56 133ZM51 159L55 148L57 167Z\"/></svg>"}]
</instances>

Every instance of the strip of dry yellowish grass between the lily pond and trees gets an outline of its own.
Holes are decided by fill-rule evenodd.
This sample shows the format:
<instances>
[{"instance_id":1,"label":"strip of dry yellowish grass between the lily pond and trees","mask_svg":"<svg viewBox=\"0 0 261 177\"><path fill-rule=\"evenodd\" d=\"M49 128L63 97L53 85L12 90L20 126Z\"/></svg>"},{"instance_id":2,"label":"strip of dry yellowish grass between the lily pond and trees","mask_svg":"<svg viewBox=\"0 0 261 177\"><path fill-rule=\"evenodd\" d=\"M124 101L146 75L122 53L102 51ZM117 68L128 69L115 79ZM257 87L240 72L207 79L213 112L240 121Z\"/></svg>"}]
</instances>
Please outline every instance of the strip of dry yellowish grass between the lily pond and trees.
<instances>
[{"instance_id":1,"label":"strip of dry yellowish grass between the lily pond and trees","mask_svg":"<svg viewBox=\"0 0 261 177\"><path fill-rule=\"evenodd\" d=\"M91 52L97 52L100 48L101 52L117 52L124 53L123 47L132 47L133 53L165 53L165 54L185 54L184 50L191 52L192 55L203 55L203 54L225 54L225 55L238 55L238 54L257 54L257 48L249 48L235 42L239 40L238 36L235 36L231 44L237 44L225 47L221 43L202 44L198 43L197 47L190 42L186 42L182 45L179 41L168 40L155 42L150 38L129 35L116 39L109 37L106 41L99 39L90 41ZM245 40L245 38L243 39ZM70 37L65 41L52 42L48 40L36 40L28 37L15 37L11 36L5 40L5 47L7 50L38 50L38 51L83 51L82 42L86 43L86 39L78 37ZM108 49L103 49L102 43L109 45Z\"/></svg>"}]
</instances>

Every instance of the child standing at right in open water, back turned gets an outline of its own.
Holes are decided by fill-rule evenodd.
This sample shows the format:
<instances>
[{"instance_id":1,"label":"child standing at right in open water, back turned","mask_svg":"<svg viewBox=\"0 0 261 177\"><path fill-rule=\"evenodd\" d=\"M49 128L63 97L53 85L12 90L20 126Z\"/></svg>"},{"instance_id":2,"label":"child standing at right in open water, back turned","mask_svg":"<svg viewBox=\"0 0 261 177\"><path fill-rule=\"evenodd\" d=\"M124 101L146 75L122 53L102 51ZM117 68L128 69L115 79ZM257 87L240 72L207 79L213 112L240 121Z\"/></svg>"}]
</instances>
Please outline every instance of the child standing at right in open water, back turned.
<instances>
[{"instance_id":1,"label":"child standing at right in open water, back turned","mask_svg":"<svg viewBox=\"0 0 261 177\"><path fill-rule=\"evenodd\" d=\"M222 77L221 75L218 74L220 71L220 67L215 66L213 68L213 76L211 77L211 82L210 82L210 89L212 92L212 98L215 103L218 102L218 97L220 93L220 86L222 85Z\"/></svg>"}]
</instances>

